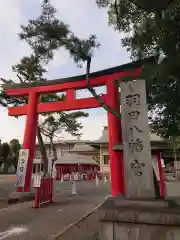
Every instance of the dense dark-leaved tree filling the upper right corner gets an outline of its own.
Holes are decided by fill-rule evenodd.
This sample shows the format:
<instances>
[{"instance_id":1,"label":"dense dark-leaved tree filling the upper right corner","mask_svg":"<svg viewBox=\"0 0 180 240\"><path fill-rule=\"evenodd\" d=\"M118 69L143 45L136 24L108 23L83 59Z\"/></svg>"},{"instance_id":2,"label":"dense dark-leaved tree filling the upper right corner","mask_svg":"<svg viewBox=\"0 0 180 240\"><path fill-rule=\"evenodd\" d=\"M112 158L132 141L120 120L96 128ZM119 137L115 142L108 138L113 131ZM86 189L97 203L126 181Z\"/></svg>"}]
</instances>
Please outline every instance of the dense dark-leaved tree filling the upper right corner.
<instances>
[{"instance_id":1,"label":"dense dark-leaved tree filling the upper right corner","mask_svg":"<svg viewBox=\"0 0 180 240\"><path fill-rule=\"evenodd\" d=\"M139 0L116 4L102 0L100 7L103 2L108 7L109 25L123 33L122 46L131 58L154 56L155 62L143 66L141 74L147 80L151 129L163 137L180 136L180 1L148 12L139 7Z\"/></svg>"}]
</instances>

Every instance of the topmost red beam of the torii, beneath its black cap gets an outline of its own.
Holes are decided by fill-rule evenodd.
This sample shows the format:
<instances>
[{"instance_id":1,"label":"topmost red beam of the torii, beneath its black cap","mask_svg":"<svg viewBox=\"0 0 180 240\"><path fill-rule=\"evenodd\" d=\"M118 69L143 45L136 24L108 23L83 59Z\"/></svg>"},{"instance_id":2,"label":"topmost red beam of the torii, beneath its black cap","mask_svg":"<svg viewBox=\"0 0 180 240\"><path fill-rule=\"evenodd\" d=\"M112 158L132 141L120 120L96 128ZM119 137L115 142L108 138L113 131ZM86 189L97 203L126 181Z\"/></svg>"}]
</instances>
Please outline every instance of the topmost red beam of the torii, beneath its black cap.
<instances>
[{"instance_id":1,"label":"topmost red beam of the torii, beneath its black cap","mask_svg":"<svg viewBox=\"0 0 180 240\"><path fill-rule=\"evenodd\" d=\"M138 70L136 70L136 72L137 71ZM132 72L117 72L111 75L90 78L90 83L92 87L103 86L105 85L106 82L113 81L114 79L123 77L125 75L132 75ZM76 82L60 83L56 85L8 89L6 90L6 94L9 96L25 96L28 95L30 92L36 93L63 92L68 89L83 89L86 88L86 86L87 86L86 81L81 80Z\"/></svg>"}]
</instances>

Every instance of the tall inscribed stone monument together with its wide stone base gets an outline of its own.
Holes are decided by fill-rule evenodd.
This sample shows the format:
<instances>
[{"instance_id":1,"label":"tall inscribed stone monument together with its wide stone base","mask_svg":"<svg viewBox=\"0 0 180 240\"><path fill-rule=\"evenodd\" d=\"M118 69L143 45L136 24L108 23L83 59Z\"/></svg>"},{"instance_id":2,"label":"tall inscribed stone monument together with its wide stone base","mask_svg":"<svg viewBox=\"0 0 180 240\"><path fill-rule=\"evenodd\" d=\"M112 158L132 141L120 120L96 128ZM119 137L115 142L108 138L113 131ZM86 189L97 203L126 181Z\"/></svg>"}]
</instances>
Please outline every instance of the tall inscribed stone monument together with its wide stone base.
<instances>
[{"instance_id":1,"label":"tall inscribed stone monument together with its wide stone base","mask_svg":"<svg viewBox=\"0 0 180 240\"><path fill-rule=\"evenodd\" d=\"M121 83L125 195L100 208L100 240L180 240L180 208L157 199L144 80Z\"/></svg>"}]
</instances>

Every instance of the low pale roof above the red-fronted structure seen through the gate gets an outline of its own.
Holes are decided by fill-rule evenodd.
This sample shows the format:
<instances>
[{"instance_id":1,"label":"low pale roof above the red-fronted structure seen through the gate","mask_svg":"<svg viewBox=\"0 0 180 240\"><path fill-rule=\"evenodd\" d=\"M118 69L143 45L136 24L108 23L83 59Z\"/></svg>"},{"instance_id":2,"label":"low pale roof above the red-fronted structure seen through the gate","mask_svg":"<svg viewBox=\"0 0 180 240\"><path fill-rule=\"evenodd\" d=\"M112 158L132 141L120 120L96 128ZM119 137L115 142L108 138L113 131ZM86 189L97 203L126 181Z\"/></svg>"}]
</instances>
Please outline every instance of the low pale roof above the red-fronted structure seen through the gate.
<instances>
[{"instance_id":1,"label":"low pale roof above the red-fronted structure seen through the gate","mask_svg":"<svg viewBox=\"0 0 180 240\"><path fill-rule=\"evenodd\" d=\"M97 165L97 162L90 156L82 156L78 154L66 154L61 156L56 162L56 164L92 164Z\"/></svg>"}]
</instances>

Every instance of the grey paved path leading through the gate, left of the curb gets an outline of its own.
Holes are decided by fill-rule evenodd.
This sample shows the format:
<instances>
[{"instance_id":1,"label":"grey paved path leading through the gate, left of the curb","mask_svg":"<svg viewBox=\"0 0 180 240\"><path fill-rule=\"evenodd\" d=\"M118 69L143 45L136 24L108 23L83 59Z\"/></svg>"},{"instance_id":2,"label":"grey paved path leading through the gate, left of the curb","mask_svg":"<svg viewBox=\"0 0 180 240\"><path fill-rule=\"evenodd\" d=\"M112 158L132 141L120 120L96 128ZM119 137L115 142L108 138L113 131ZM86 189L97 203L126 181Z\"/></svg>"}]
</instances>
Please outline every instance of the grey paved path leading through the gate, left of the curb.
<instances>
[{"instance_id":1,"label":"grey paved path leading through the gate, left of the curb","mask_svg":"<svg viewBox=\"0 0 180 240\"><path fill-rule=\"evenodd\" d=\"M76 196L72 196L71 184L64 183L53 205L33 209L32 203L25 203L0 210L0 240L53 239L53 235L80 220L104 201L109 194L109 186L101 183L96 187L94 181L79 182L77 193ZM19 231L18 237L15 231Z\"/></svg>"}]
</instances>

